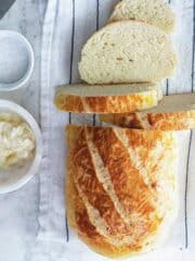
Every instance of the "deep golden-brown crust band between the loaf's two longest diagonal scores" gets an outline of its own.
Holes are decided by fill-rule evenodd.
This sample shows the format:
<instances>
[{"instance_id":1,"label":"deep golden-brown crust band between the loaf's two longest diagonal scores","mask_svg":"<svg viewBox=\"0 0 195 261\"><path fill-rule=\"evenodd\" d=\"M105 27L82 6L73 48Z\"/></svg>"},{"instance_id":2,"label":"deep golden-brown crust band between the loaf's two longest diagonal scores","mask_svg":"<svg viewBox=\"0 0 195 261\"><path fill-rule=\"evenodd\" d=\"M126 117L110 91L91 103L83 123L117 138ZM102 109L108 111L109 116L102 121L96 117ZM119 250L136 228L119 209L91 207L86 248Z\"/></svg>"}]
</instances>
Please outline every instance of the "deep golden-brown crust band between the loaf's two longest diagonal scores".
<instances>
[{"instance_id":1,"label":"deep golden-brown crust band between the loaf's two longest diagonal scores","mask_svg":"<svg viewBox=\"0 0 195 261\"><path fill-rule=\"evenodd\" d=\"M90 130L93 132L93 129ZM104 140L104 142L102 142L102 140ZM123 204L122 207L125 211L130 214L133 208L138 208L139 214L151 214L154 210L151 199L152 195L143 178L140 176L139 170L133 166L132 159L130 158L127 148L117 138L113 129L106 129L106 132L105 129L96 129L95 135L93 135L92 142L98 148L104 166L109 172L115 192L121 204ZM130 170L131 176L129 176ZM127 183L128 178L129 183ZM123 200L130 190L131 200ZM142 191L142 195L136 195L136 190ZM142 206L143 209L139 209L140 202L143 200L142 197L147 198L147 203Z\"/></svg>"}]
</instances>

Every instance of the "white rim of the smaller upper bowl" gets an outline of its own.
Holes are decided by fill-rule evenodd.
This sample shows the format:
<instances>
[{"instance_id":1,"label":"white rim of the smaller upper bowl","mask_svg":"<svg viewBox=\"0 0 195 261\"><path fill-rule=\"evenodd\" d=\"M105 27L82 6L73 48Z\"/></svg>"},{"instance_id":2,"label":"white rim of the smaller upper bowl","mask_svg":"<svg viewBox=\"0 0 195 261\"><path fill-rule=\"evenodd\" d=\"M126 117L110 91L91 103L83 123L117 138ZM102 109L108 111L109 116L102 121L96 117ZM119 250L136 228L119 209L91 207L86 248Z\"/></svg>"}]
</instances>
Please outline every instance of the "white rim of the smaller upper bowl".
<instances>
[{"instance_id":1,"label":"white rim of the smaller upper bowl","mask_svg":"<svg viewBox=\"0 0 195 261\"><path fill-rule=\"evenodd\" d=\"M6 88L1 87L2 85L0 86L0 91L9 92L12 90L20 89L28 83L28 80L30 79L30 77L32 75L34 67L35 67L35 53L34 53L31 44L21 33L16 32L16 30L0 29L0 37L1 37L1 35L9 36L9 37L11 36L11 37L14 37L14 38L17 38L18 40L21 40L22 44L25 46L28 57L29 57L29 64L28 64L27 72L21 79L18 79L15 83L12 83L12 84L3 84L3 86L6 86Z\"/></svg>"}]
</instances>

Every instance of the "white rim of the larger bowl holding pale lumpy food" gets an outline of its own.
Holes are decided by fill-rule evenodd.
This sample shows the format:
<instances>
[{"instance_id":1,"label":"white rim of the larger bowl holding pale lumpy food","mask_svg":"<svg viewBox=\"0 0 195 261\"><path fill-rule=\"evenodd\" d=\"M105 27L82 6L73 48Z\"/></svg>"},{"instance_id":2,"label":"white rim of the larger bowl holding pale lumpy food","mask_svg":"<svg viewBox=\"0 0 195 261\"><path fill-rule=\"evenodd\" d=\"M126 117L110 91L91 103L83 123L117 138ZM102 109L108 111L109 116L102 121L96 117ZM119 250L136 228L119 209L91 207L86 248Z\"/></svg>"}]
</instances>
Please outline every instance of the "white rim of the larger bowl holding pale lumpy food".
<instances>
[{"instance_id":1,"label":"white rim of the larger bowl holding pale lumpy food","mask_svg":"<svg viewBox=\"0 0 195 261\"><path fill-rule=\"evenodd\" d=\"M41 130L39 128L38 123L32 117L32 115L27 110L25 110L23 107L16 104L15 102L9 101L9 100L0 99L0 112L1 112L1 109L5 109L5 110L8 109L11 112L17 114L29 125L30 129L32 130L32 133L35 135L35 139L36 139L36 153L35 153L35 158L32 160L32 163L31 163L28 172L12 185L0 186L0 195L14 191L18 188L22 188L24 185L26 185L38 172L39 166L41 164L41 160L42 160Z\"/></svg>"}]
</instances>

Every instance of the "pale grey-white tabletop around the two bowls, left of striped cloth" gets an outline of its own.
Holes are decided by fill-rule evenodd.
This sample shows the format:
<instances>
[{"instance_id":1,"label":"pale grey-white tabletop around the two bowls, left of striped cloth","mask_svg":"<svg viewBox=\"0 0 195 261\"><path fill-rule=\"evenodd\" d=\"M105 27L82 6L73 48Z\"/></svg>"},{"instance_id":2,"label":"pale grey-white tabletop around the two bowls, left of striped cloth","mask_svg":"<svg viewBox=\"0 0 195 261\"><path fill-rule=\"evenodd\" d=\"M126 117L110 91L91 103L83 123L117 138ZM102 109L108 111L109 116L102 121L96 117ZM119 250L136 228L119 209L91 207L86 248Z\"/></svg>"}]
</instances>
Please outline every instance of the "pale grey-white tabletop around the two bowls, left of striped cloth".
<instances>
[{"instance_id":1,"label":"pale grey-white tabletop around the two bowls, left of striped cloth","mask_svg":"<svg viewBox=\"0 0 195 261\"><path fill-rule=\"evenodd\" d=\"M46 1L16 0L0 20L0 29L13 29L24 34L31 42L36 66L26 89L0 99L10 99L25 107L39 121L39 73L41 49L41 23ZM35 244L38 232L39 176L36 175L24 188L0 196L0 261L24 261Z\"/></svg>"}]
</instances>

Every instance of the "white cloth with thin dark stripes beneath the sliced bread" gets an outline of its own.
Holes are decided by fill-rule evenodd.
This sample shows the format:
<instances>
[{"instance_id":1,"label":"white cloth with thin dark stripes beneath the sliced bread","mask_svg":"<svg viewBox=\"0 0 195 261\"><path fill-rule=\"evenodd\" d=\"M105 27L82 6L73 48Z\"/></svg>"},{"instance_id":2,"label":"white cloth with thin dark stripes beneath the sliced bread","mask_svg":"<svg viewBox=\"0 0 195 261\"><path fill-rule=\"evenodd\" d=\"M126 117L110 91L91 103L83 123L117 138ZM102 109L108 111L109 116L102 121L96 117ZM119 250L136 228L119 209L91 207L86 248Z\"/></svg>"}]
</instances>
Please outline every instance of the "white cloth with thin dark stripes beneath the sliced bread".
<instances>
[{"instance_id":1,"label":"white cloth with thin dark stripes beneath the sliced bread","mask_svg":"<svg viewBox=\"0 0 195 261\"><path fill-rule=\"evenodd\" d=\"M54 1L52 4L54 4ZM64 252L69 261L78 260L104 260L91 253L88 248L72 234L68 227L64 226L58 210L63 209L63 185L64 177L64 157L66 147L62 144L64 138L64 125L72 123L99 124L96 117L92 115L82 116L78 114L68 114L57 112L52 105L54 90L57 85L65 83L80 82L78 75L78 61L80 59L80 50L88 37L99 27L105 24L110 10L117 0L58 0L56 4L56 15L53 21L50 13L47 14L48 28L54 25L53 41L51 47L51 67L49 85L49 100L43 100L46 111L49 119L46 120L46 113L42 112L44 119L46 134L51 137L48 146L47 170L49 175L42 173L41 183L47 182L47 186L41 187L42 195L50 187L50 199L46 204L46 195L41 200L44 210L42 215L43 229L41 236L57 236L64 243ZM180 65L177 74L172 79L164 83L165 94L191 92L194 87L194 35L195 35L195 7L194 0L171 0L170 1L178 14L178 26L174 35L174 42L179 53ZM50 1L51 4L51 1ZM53 12L53 9L52 9ZM46 26L47 27L47 26ZM48 59L50 60L50 59ZM47 73L47 72L46 72ZM46 88L46 86L44 86ZM46 91L46 89L44 89ZM50 111L50 113L49 113ZM51 115L52 113L52 115ZM180 185L180 210L179 217L172 228L172 234L165 249L156 254L148 254L134 260L193 260L195 245L195 137L193 132L178 133L180 145L180 167L179 167L179 185ZM50 151L50 153L49 153ZM61 151L61 152L60 152ZM52 161L52 163L51 163ZM53 187L54 184L55 186ZM44 191L44 192L43 192ZM46 206L47 211L46 212ZM57 208L56 208L57 206ZM57 209L57 211L56 211ZM47 220L48 213L49 219ZM52 224L52 225L51 225ZM57 234L57 229L60 233ZM48 233L48 234L47 234ZM67 240L67 241L65 241ZM62 243L61 241L61 243Z\"/></svg>"}]
</instances>

